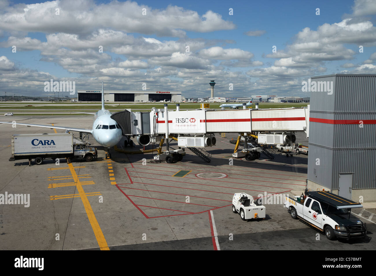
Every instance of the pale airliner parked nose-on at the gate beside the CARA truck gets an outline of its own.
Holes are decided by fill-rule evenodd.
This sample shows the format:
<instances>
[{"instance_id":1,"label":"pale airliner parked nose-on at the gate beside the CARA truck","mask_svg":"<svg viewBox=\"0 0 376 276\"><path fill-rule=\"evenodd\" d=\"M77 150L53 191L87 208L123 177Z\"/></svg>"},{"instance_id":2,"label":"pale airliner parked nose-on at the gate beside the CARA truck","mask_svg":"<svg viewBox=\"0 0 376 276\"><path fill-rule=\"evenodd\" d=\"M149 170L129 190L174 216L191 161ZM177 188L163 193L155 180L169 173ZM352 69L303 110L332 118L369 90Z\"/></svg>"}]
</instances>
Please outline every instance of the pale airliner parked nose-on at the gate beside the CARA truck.
<instances>
[{"instance_id":1,"label":"pale airliner parked nose-on at the gate beside the CARA truck","mask_svg":"<svg viewBox=\"0 0 376 276\"><path fill-rule=\"evenodd\" d=\"M59 127L54 125L36 125L36 124L24 124L24 123L12 123L12 122L0 122L0 124L15 124L15 125L26 125L27 127L45 127L50 129L65 130L66 133L69 131L78 131L83 133L91 134L94 139L102 146L107 147L107 156L109 157L109 148L117 145L120 142L123 131L121 130L118 123L111 119L112 113L105 109L105 98L103 92L103 81L102 81L102 109L98 110L96 113L88 112L76 112L83 114L94 115L94 122L91 129L86 128L76 128L76 127Z\"/></svg>"}]
</instances>

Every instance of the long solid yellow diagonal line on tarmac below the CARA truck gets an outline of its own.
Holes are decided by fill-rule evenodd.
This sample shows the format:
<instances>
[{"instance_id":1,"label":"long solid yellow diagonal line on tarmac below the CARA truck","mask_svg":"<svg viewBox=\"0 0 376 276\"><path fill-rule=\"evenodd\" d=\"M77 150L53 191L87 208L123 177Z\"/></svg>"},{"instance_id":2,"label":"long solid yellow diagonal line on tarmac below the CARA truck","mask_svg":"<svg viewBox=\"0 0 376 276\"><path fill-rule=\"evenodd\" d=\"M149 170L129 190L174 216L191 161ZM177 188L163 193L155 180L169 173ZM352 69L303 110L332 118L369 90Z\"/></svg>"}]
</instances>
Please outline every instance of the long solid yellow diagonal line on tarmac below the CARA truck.
<instances>
[{"instance_id":1,"label":"long solid yellow diagonal line on tarmac below the CARA truck","mask_svg":"<svg viewBox=\"0 0 376 276\"><path fill-rule=\"evenodd\" d=\"M76 171L73 169L72 164L68 164L70 172L74 178L74 182L76 182L77 191L81 197L83 206L85 207L86 214L88 215L89 222L91 224L91 228L93 229L94 235L97 239L98 245L100 250L110 250L103 235L102 229L100 229L99 223L94 215L94 212L90 206L88 197L86 196L85 192L83 191L80 179L78 178Z\"/></svg>"}]
</instances>

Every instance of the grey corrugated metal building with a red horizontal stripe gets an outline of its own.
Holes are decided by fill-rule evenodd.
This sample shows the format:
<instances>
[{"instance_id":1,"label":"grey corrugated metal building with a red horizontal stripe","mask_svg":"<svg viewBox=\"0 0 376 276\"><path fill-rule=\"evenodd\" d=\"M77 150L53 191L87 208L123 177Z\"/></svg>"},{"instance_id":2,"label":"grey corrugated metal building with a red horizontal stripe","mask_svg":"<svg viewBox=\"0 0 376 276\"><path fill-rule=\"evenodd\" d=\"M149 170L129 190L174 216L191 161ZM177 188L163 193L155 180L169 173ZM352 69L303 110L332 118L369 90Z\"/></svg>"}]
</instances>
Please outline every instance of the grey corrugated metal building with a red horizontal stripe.
<instances>
[{"instance_id":1,"label":"grey corrugated metal building with a red horizontal stripe","mask_svg":"<svg viewBox=\"0 0 376 276\"><path fill-rule=\"evenodd\" d=\"M376 201L376 75L312 77L308 89L308 188Z\"/></svg>"}]
</instances>

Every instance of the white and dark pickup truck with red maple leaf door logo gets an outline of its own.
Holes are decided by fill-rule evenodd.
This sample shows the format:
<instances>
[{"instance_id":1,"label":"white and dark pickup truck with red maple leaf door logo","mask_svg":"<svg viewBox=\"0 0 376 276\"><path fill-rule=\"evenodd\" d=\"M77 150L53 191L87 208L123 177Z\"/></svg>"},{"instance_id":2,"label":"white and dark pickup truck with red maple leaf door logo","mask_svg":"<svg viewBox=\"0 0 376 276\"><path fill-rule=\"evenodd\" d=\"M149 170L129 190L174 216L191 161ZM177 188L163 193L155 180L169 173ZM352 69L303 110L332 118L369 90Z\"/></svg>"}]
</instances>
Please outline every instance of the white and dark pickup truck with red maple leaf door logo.
<instances>
[{"instance_id":1,"label":"white and dark pickup truck with red maple leaf door logo","mask_svg":"<svg viewBox=\"0 0 376 276\"><path fill-rule=\"evenodd\" d=\"M367 234L365 223L351 214L352 208L363 206L331 192L309 192L306 189L303 204L300 198L285 196L284 207L290 210L293 219L300 219L323 231L329 240L365 237Z\"/></svg>"}]
</instances>

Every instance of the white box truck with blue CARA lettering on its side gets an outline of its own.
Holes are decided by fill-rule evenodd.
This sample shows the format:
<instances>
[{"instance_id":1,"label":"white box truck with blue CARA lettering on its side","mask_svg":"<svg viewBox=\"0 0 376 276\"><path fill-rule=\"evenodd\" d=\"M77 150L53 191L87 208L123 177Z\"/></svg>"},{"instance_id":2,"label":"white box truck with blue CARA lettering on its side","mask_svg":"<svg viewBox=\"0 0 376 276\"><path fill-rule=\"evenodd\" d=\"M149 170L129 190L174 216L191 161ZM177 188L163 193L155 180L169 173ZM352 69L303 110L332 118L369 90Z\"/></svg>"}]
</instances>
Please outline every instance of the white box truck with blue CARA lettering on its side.
<instances>
[{"instance_id":1,"label":"white box truck with blue CARA lettering on its side","mask_svg":"<svg viewBox=\"0 0 376 276\"><path fill-rule=\"evenodd\" d=\"M12 157L9 161L29 159L30 166L32 159L35 164L40 165L44 159L49 158L85 158L86 161L92 161L97 156L96 148L87 146L71 133L14 134Z\"/></svg>"}]
</instances>

